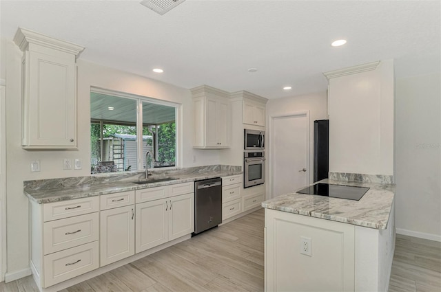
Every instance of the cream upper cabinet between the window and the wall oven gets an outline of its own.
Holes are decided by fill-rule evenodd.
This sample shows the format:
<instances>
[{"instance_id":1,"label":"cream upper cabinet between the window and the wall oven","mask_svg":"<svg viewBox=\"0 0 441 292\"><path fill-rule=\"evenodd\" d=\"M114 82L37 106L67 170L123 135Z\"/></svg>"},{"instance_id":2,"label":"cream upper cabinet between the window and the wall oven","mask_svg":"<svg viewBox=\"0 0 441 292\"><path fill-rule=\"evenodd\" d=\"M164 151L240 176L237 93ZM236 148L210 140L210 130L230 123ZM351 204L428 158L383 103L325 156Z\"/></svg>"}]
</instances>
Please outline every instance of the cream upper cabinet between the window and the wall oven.
<instances>
[{"instance_id":1,"label":"cream upper cabinet between the window and the wall oven","mask_svg":"<svg viewBox=\"0 0 441 292\"><path fill-rule=\"evenodd\" d=\"M229 148L229 93L203 85L192 89L193 148Z\"/></svg>"}]
</instances>

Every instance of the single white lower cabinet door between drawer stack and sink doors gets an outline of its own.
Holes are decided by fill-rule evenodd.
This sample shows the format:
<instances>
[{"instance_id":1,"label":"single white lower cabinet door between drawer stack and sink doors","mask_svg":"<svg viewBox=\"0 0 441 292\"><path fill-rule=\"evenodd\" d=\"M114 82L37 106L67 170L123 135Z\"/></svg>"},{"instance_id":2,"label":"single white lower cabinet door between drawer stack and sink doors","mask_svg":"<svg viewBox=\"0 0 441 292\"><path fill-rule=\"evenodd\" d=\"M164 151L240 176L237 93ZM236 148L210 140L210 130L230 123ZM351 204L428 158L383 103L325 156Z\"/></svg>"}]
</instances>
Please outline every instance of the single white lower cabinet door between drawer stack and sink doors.
<instances>
[{"instance_id":1,"label":"single white lower cabinet door between drawer stack and sink doors","mask_svg":"<svg viewBox=\"0 0 441 292\"><path fill-rule=\"evenodd\" d=\"M100 267L134 255L134 205L101 211Z\"/></svg>"}]
</instances>

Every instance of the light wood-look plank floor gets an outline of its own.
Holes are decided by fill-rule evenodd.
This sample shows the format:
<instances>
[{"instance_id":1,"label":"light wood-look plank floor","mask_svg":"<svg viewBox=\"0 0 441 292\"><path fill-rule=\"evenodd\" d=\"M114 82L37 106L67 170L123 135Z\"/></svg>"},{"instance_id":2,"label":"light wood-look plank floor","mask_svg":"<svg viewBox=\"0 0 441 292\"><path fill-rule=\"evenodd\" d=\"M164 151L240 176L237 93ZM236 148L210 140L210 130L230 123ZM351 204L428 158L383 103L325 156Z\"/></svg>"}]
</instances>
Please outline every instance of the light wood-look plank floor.
<instances>
[{"instance_id":1,"label":"light wood-look plank floor","mask_svg":"<svg viewBox=\"0 0 441 292\"><path fill-rule=\"evenodd\" d=\"M63 290L263 291L264 212L258 210L183 243ZM31 276L0 291L38 291ZM389 292L441 292L441 243L397 235Z\"/></svg>"}]
</instances>

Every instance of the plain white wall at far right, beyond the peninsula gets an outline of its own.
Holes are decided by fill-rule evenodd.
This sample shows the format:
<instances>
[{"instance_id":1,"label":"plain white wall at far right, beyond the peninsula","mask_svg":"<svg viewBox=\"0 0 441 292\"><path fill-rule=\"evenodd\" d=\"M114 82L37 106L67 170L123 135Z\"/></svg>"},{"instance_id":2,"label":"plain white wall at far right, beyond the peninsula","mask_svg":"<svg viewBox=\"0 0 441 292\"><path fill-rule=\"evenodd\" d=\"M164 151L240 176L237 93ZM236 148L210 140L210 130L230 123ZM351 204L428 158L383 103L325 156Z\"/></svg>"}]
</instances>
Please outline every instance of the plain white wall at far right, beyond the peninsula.
<instances>
[{"instance_id":1,"label":"plain white wall at far right, beyond the peninsula","mask_svg":"<svg viewBox=\"0 0 441 292\"><path fill-rule=\"evenodd\" d=\"M441 74L396 80L397 232L441 241Z\"/></svg>"}]
</instances>

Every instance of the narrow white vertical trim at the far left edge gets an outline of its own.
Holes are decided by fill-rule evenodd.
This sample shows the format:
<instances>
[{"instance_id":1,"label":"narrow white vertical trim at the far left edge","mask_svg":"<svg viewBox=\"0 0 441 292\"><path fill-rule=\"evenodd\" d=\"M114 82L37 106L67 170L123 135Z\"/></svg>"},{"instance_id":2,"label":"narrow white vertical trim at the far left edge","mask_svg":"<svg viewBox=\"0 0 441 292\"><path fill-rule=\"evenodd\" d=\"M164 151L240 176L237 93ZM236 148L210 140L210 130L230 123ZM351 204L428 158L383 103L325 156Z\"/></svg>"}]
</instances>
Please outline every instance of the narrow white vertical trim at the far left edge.
<instances>
[{"instance_id":1,"label":"narrow white vertical trim at the far left edge","mask_svg":"<svg viewBox=\"0 0 441 292\"><path fill-rule=\"evenodd\" d=\"M6 265L6 87L0 86L0 282Z\"/></svg>"}]
</instances>

